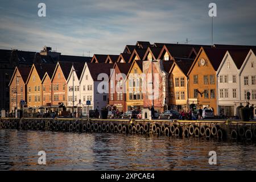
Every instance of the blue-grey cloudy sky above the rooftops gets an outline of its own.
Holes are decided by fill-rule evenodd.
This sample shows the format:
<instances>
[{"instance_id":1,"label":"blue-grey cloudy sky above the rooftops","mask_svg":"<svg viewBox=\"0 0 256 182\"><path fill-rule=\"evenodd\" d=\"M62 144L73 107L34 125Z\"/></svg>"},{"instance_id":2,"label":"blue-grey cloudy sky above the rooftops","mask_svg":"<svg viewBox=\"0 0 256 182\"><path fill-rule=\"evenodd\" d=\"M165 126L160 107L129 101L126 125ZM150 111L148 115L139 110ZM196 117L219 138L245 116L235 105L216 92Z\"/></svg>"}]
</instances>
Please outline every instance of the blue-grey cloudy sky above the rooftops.
<instances>
[{"instance_id":1,"label":"blue-grey cloudy sky above the rooftops","mask_svg":"<svg viewBox=\"0 0 256 182\"><path fill-rule=\"evenodd\" d=\"M38 4L46 4L46 17ZM123 52L138 40L153 43L256 45L256 1L1 0L0 49L52 47L63 55Z\"/></svg>"}]
</instances>

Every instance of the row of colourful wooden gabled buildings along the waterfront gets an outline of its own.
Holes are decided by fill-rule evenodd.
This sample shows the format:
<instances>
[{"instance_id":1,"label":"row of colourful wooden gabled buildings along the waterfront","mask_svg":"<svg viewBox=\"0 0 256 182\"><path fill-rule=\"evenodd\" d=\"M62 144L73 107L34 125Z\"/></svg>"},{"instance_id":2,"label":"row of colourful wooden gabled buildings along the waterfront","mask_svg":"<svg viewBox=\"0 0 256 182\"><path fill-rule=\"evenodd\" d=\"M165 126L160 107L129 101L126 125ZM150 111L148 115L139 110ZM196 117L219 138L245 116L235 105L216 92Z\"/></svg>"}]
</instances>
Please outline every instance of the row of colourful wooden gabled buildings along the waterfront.
<instances>
[{"instance_id":1,"label":"row of colourful wooden gabled buildings along the waterfront","mask_svg":"<svg viewBox=\"0 0 256 182\"><path fill-rule=\"evenodd\" d=\"M22 99L35 109L54 109L60 104L72 109L74 98L77 113L104 106L119 111L139 110L154 104L160 111L195 105L212 109L214 114L233 116L240 103L245 105L247 92L251 94L251 104L256 101L255 50L255 46L137 42L125 46L120 55L93 55L90 63L59 61L52 67L34 64L24 76L20 68L15 71L24 77L27 90ZM10 111L15 107L12 91L16 72L10 82ZM108 93L98 92L100 73L109 76ZM123 75L116 79L118 73ZM143 92L142 73L160 75L160 84L156 85L160 94L154 101ZM106 88L106 83L101 87ZM112 92L113 88L121 89ZM90 106L85 104L88 100Z\"/></svg>"}]
</instances>

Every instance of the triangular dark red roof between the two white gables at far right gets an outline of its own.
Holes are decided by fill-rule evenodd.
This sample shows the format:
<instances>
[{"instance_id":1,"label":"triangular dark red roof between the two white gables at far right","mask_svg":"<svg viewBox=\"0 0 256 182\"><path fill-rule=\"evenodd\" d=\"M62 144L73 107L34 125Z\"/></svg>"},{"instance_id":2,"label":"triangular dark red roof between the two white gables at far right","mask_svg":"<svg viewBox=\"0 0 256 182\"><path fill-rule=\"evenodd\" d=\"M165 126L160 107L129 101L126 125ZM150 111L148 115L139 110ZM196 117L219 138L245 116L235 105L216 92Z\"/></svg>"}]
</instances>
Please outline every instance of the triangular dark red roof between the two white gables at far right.
<instances>
[{"instance_id":1,"label":"triangular dark red roof between the two white gables at far right","mask_svg":"<svg viewBox=\"0 0 256 182\"><path fill-rule=\"evenodd\" d=\"M246 56L248 55L250 49L232 49L229 50L229 54L232 57L234 63L237 66L237 69L240 69L243 61L245 61Z\"/></svg>"}]
</instances>

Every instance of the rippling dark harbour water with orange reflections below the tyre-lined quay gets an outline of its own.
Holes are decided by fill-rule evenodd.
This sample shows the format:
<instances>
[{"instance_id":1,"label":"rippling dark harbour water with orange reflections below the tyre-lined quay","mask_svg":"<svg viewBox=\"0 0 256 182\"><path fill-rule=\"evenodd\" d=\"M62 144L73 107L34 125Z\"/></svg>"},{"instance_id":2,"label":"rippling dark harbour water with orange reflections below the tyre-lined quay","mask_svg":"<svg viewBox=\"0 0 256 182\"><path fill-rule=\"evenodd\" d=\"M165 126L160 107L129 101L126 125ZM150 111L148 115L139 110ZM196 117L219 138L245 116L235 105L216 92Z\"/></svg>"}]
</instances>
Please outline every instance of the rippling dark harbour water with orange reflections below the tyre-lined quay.
<instances>
[{"instance_id":1,"label":"rippling dark harbour water with orange reflections below the tyre-lined quay","mask_svg":"<svg viewBox=\"0 0 256 182\"><path fill-rule=\"evenodd\" d=\"M47 165L38 165L38 151ZM217 165L209 165L209 151ZM256 169L254 143L107 133L0 130L1 170Z\"/></svg>"}]
</instances>

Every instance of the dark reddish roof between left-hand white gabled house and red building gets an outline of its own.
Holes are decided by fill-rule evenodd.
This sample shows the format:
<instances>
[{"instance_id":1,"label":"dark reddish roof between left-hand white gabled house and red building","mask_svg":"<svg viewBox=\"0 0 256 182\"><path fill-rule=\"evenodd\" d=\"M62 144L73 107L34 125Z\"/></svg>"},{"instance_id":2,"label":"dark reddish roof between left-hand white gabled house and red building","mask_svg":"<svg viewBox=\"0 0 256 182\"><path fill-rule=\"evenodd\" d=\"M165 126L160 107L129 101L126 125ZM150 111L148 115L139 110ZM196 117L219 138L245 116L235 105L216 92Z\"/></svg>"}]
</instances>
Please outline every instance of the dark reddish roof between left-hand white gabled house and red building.
<instances>
[{"instance_id":1,"label":"dark reddish roof between left-hand white gabled house and red building","mask_svg":"<svg viewBox=\"0 0 256 182\"><path fill-rule=\"evenodd\" d=\"M97 81L98 75L100 73L106 73L110 76L110 69L113 68L113 64L105 64L105 63L87 63L88 69L90 71L90 75L92 76L94 81Z\"/></svg>"}]
</instances>

